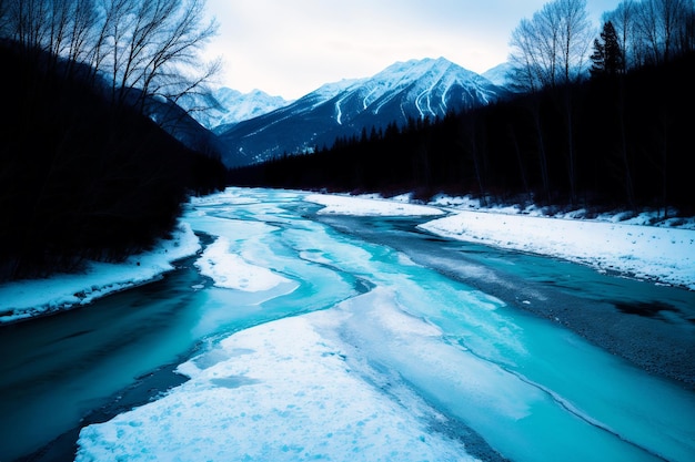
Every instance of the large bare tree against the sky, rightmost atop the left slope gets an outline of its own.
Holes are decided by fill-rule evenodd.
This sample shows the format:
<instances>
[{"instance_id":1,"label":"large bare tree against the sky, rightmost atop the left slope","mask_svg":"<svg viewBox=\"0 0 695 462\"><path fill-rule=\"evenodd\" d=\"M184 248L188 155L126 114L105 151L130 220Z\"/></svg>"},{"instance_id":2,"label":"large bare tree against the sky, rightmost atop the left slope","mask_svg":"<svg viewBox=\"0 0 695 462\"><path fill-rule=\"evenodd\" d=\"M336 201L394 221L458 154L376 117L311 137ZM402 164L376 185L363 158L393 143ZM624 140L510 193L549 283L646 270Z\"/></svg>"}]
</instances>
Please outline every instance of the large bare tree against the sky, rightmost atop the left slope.
<instances>
[{"instance_id":1,"label":"large bare tree against the sky, rightmost atop the left slope","mask_svg":"<svg viewBox=\"0 0 695 462\"><path fill-rule=\"evenodd\" d=\"M117 104L144 110L150 96L177 101L218 73L219 62L200 60L218 27L203 23L204 0L105 0L102 6L92 65L111 76Z\"/></svg>"}]
</instances>

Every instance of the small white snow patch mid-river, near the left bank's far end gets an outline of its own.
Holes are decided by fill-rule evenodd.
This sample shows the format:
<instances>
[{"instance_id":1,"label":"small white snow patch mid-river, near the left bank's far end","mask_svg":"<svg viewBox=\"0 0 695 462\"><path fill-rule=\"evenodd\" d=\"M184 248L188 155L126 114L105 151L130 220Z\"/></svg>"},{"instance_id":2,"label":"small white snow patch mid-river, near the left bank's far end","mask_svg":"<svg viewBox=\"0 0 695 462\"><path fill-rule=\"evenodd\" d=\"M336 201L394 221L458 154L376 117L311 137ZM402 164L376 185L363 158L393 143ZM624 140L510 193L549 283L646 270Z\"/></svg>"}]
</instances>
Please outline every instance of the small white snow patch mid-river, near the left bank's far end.
<instances>
[{"instance_id":1,"label":"small white snow patch mid-river, near the left bank's far end","mask_svg":"<svg viewBox=\"0 0 695 462\"><path fill-rule=\"evenodd\" d=\"M214 285L228 289L244 291L270 290L273 287L290 283L289 279L268 268L255 266L241 256L229 251L230 243L220 237L205 248L195 261L201 274L212 278Z\"/></svg>"}]
</instances>

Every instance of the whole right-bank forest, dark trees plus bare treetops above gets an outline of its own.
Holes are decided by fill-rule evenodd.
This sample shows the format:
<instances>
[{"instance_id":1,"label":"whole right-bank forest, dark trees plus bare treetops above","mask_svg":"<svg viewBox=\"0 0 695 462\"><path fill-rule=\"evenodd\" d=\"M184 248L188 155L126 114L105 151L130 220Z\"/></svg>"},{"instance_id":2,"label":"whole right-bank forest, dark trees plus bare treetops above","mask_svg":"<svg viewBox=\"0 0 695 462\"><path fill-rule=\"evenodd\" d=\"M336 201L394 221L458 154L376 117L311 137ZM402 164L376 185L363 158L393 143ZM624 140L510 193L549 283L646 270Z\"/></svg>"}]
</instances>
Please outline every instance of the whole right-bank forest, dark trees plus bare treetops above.
<instances>
[{"instance_id":1,"label":"whole right-bank forest, dark trees plus bare treetops above","mask_svg":"<svg viewBox=\"0 0 695 462\"><path fill-rule=\"evenodd\" d=\"M693 3L624 1L596 37L585 6L555 0L520 23L508 100L363 130L313 154L233 170L230 182L694 214Z\"/></svg>"}]
</instances>

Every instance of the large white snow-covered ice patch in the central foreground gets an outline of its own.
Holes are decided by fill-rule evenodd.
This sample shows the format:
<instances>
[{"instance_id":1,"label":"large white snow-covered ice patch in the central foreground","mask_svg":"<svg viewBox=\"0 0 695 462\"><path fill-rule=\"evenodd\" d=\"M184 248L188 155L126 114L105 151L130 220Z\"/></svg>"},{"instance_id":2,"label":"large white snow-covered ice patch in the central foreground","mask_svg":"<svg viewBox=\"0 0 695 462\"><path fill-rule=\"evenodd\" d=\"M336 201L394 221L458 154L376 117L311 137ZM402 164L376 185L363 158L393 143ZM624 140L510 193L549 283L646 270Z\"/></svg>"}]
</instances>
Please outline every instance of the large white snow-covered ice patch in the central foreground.
<instances>
[{"instance_id":1,"label":"large white snow-covered ice patch in the central foreground","mask_svg":"<svg viewBox=\"0 0 695 462\"><path fill-rule=\"evenodd\" d=\"M191 380L168 396L82 429L75 460L474 460L431 430L421 400L393 399L352 369L365 361L348 358L345 348L353 350L335 340L344 317L331 309L226 338L182 365ZM389 318L411 335L437 335Z\"/></svg>"}]
</instances>

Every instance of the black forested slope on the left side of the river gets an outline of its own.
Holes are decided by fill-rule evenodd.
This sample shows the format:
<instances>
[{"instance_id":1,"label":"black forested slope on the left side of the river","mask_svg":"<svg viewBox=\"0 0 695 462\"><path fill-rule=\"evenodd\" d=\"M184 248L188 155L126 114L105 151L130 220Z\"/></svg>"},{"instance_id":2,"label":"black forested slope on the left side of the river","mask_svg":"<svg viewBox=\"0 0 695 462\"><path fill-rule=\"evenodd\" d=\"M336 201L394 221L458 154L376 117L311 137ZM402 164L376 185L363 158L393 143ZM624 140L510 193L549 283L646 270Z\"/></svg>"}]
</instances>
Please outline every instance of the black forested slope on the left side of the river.
<instances>
[{"instance_id":1,"label":"black forested slope on the left side of the river","mask_svg":"<svg viewBox=\"0 0 695 462\"><path fill-rule=\"evenodd\" d=\"M0 42L0 280L120 260L168 236L187 195L224 186L219 158L53 61Z\"/></svg>"}]
</instances>

